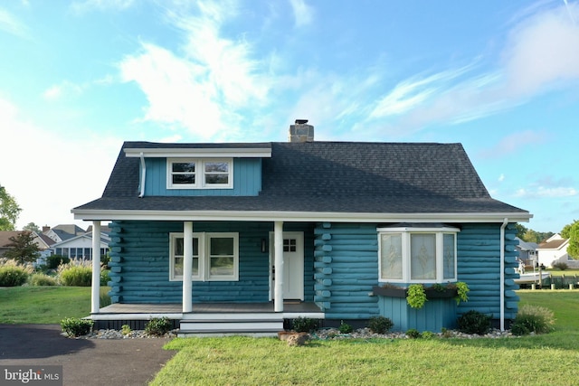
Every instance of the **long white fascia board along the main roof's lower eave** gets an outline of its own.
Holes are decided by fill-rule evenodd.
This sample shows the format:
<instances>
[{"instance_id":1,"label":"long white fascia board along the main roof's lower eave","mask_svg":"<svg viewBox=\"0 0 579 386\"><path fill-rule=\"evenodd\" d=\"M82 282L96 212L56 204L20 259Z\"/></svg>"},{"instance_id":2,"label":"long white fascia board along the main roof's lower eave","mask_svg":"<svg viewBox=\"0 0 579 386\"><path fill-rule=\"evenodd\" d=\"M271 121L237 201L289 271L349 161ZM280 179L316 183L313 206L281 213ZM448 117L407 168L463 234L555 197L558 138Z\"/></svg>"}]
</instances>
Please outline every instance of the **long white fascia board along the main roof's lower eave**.
<instances>
[{"instance_id":1,"label":"long white fascia board along the main roof's lower eave","mask_svg":"<svg viewBox=\"0 0 579 386\"><path fill-rule=\"evenodd\" d=\"M85 221L333 221L333 222L527 222L533 215L500 213L344 213L239 211L72 211Z\"/></svg>"}]
</instances>

